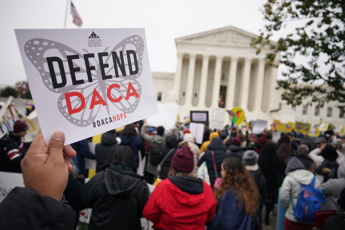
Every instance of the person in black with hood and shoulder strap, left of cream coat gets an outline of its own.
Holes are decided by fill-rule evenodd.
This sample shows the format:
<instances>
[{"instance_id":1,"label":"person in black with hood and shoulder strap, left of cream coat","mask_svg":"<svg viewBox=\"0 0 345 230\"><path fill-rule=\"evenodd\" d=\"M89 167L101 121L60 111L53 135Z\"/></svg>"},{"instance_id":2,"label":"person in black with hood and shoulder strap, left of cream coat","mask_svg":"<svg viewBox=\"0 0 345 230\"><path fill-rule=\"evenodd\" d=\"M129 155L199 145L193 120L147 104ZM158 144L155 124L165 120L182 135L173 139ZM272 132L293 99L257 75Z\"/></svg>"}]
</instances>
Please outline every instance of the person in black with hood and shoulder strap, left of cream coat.
<instances>
[{"instance_id":1,"label":"person in black with hood and shoulder strap, left of cream coat","mask_svg":"<svg viewBox=\"0 0 345 230\"><path fill-rule=\"evenodd\" d=\"M169 156L165 159L165 161L162 163L162 168L159 172L159 178L164 180L168 178L168 173L170 170L171 165L171 159L174 157L174 154L177 151L177 139L175 134L171 134L170 136L167 136L165 138L165 146L162 149L162 157L165 157L170 151Z\"/></svg>"}]
</instances>

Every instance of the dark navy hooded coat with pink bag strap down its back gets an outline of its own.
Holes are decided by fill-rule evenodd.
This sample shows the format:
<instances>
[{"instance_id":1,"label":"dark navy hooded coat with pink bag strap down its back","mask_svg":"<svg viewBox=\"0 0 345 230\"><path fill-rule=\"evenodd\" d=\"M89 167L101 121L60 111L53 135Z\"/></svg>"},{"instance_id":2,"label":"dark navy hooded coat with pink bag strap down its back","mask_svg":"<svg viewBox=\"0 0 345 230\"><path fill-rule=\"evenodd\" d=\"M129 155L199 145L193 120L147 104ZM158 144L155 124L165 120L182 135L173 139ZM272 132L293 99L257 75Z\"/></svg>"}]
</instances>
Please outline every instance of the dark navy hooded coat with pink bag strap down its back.
<instances>
[{"instance_id":1,"label":"dark navy hooded coat with pink bag strap down its back","mask_svg":"<svg viewBox=\"0 0 345 230\"><path fill-rule=\"evenodd\" d=\"M214 169L213 159L212 159L212 152L214 152L216 168L218 177L221 177L221 163L223 162L224 158L229 157L227 153L225 153L225 146L219 137L213 138L209 146L207 147L206 152L203 156L201 156L200 160L198 161L198 167L206 161L208 175L210 177L211 187L213 188L213 184L216 180L216 173Z\"/></svg>"}]
</instances>

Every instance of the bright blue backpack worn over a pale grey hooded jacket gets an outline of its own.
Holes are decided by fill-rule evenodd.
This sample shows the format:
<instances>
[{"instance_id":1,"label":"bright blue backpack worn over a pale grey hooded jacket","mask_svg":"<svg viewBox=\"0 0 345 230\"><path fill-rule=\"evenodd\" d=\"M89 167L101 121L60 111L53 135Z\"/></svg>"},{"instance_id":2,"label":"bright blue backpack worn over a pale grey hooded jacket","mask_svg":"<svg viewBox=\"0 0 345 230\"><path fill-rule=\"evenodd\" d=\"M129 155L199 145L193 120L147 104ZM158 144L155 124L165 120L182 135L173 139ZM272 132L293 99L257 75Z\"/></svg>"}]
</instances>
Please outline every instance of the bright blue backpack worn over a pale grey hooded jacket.
<instances>
[{"instance_id":1,"label":"bright blue backpack worn over a pale grey hooded jacket","mask_svg":"<svg viewBox=\"0 0 345 230\"><path fill-rule=\"evenodd\" d=\"M294 207L290 196L294 215L299 222L314 223L314 212L321 210L321 203L326 202L320 189L316 189L315 176L311 184L301 184L301 191L298 193L297 204Z\"/></svg>"}]
</instances>

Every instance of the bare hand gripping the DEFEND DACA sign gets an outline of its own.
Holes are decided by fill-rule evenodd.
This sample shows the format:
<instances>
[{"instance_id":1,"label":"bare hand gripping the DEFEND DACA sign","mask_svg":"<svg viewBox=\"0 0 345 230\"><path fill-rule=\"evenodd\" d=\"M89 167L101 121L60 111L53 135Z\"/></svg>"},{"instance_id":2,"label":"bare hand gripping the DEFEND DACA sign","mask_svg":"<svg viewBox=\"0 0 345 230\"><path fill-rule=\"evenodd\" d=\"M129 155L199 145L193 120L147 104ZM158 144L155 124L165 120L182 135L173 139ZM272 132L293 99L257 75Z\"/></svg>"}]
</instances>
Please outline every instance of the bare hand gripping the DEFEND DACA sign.
<instances>
[{"instance_id":1,"label":"bare hand gripping the DEFEND DACA sign","mask_svg":"<svg viewBox=\"0 0 345 230\"><path fill-rule=\"evenodd\" d=\"M68 172L72 170L67 157L75 157L76 152L70 145L63 147L65 134L53 134L47 148L42 134L39 134L21 161L26 188L37 191L41 196L61 200L66 188Z\"/></svg>"}]
</instances>

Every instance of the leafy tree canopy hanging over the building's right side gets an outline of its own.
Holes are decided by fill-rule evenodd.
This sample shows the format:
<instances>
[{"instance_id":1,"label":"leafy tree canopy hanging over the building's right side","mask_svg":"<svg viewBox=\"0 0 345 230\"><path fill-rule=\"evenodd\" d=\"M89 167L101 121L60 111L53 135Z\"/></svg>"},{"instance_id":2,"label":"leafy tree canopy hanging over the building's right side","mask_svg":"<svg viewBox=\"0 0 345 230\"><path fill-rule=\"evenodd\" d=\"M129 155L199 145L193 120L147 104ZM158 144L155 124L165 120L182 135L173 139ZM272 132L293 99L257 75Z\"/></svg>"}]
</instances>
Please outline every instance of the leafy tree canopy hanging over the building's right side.
<instances>
[{"instance_id":1,"label":"leafy tree canopy hanging over the building's right side","mask_svg":"<svg viewBox=\"0 0 345 230\"><path fill-rule=\"evenodd\" d=\"M279 61L286 66L284 79L277 82L278 88L284 89L282 99L292 106L302 104L304 99L321 107L325 102L338 101L338 107L344 109L344 0L267 0L263 13L267 24L252 46L257 53L269 47L272 52L266 59L271 64L280 53ZM294 33L279 38L277 43L269 41L286 23L296 20L300 26ZM306 58L307 64L297 63L297 56Z\"/></svg>"}]
</instances>

